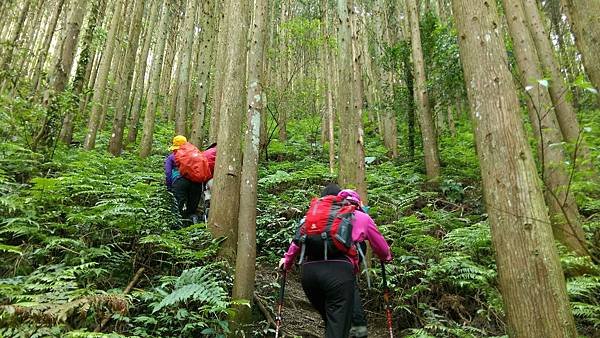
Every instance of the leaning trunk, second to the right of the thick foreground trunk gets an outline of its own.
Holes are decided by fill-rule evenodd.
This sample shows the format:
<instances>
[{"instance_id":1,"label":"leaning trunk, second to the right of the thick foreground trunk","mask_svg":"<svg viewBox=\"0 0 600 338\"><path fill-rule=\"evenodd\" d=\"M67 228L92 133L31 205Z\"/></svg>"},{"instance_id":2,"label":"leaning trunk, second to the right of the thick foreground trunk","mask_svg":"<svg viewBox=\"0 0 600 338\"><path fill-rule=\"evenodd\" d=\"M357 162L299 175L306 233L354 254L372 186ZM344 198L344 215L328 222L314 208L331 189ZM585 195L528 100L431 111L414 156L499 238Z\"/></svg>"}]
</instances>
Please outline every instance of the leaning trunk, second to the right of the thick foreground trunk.
<instances>
[{"instance_id":1,"label":"leaning trunk, second to the right of the thick foreground trunk","mask_svg":"<svg viewBox=\"0 0 600 338\"><path fill-rule=\"evenodd\" d=\"M575 115L573 105L567 101L567 93L569 89L565 85L558 62L554 57L554 51L550 44L546 29L544 28L544 22L541 19L540 11L537 7L537 1L522 1L525 9L525 16L529 25L529 30L531 31L533 41L535 43L535 48L537 49L544 71L551 80L548 90L550 91L552 103L554 103L554 106L556 107L556 117L558 118L558 123L560 124L560 130L563 138L565 141L572 144L576 144L578 141L580 142L580 144L578 144L576 147L578 149L578 154L576 155L583 158L584 161L582 163L584 164L584 168L586 170L593 171L594 167L591 161L590 151L585 141L581 138L582 135L580 135L579 122L577 121L577 116ZM600 49L598 50L600 51Z\"/></svg>"}]
</instances>

